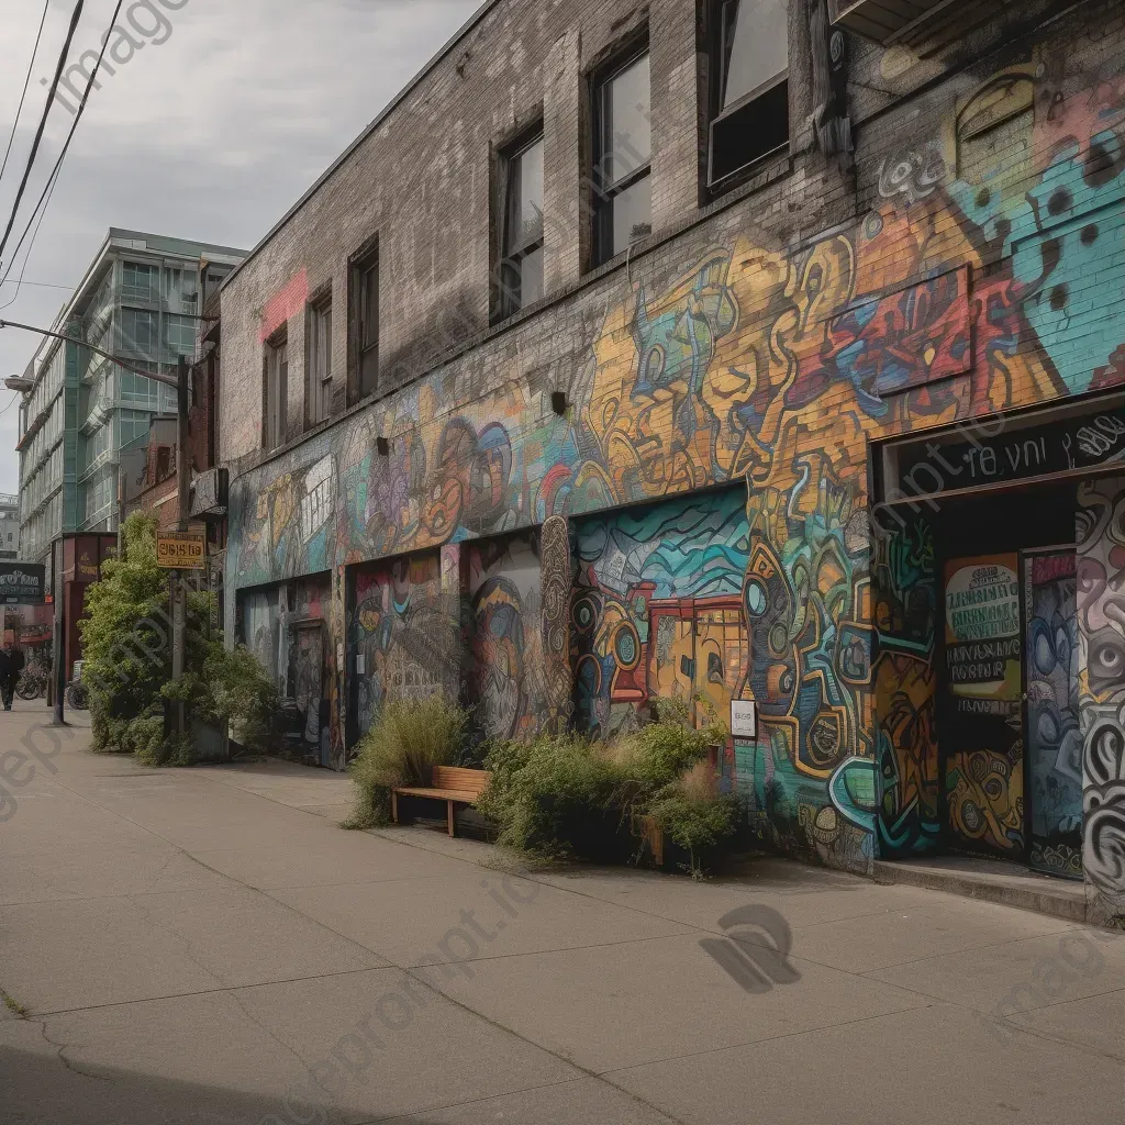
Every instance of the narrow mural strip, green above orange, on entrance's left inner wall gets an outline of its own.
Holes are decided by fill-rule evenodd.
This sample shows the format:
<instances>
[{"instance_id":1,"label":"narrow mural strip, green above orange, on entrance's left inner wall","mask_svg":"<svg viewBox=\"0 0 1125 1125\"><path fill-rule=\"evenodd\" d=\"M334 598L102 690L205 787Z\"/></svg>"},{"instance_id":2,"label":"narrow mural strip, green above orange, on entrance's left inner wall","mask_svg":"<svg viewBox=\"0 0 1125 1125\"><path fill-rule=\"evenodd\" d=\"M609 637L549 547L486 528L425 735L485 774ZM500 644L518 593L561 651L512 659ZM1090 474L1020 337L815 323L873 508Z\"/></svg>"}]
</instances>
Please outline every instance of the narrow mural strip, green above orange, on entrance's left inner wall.
<instances>
[{"instance_id":1,"label":"narrow mural strip, green above orange, on entrance's left inner wall","mask_svg":"<svg viewBox=\"0 0 1125 1125\"><path fill-rule=\"evenodd\" d=\"M936 848L942 828L934 532L912 516L878 536L874 548L879 845L883 855L911 855Z\"/></svg>"}]
</instances>

